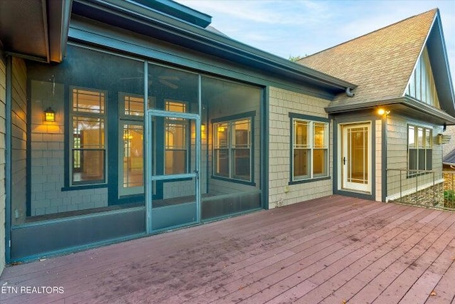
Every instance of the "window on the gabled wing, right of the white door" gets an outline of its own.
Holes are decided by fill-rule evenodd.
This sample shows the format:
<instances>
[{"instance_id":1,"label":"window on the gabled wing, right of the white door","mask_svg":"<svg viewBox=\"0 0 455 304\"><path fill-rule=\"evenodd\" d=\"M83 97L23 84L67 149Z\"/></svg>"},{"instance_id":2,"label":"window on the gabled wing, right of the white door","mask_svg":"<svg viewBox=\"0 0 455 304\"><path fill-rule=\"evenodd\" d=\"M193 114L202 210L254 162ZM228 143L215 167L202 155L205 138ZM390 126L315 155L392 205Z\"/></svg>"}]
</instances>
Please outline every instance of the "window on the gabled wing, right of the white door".
<instances>
[{"instance_id":1,"label":"window on the gabled wing, right of the white door","mask_svg":"<svg viewBox=\"0 0 455 304\"><path fill-rule=\"evenodd\" d=\"M431 170L433 152L432 130L426 127L408 125L407 159L409 170ZM417 172L410 172L416 174Z\"/></svg>"}]
</instances>

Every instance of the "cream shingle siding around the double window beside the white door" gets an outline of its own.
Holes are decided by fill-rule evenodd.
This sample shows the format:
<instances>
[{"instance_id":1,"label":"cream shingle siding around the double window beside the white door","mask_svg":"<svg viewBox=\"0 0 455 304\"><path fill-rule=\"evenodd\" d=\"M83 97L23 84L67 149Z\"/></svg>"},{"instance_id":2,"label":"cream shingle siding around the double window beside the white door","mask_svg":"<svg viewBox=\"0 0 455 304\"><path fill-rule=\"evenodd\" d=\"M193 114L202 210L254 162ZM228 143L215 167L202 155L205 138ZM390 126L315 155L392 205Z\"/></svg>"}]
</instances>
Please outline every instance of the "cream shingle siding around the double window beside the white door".
<instances>
[{"instance_id":1,"label":"cream shingle siding around the double window beside the white door","mask_svg":"<svg viewBox=\"0 0 455 304\"><path fill-rule=\"evenodd\" d=\"M333 194L333 178L291 184L291 122L289 112L327 118L327 100L269 88L269 208ZM333 127L329 127L329 174L333 177Z\"/></svg>"}]
</instances>

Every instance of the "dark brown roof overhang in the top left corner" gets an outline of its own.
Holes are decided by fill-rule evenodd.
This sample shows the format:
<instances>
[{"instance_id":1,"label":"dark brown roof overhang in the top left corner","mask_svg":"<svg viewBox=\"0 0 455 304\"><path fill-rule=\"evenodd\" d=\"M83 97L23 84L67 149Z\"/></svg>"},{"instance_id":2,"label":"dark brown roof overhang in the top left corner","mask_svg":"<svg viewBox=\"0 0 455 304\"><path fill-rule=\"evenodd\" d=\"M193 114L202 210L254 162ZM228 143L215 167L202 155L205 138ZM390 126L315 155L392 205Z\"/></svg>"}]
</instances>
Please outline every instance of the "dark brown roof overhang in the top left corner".
<instances>
[{"instance_id":1,"label":"dark brown roof overhang in the top left corner","mask_svg":"<svg viewBox=\"0 0 455 304\"><path fill-rule=\"evenodd\" d=\"M6 54L49 63L65 56L72 0L0 1Z\"/></svg>"}]
</instances>

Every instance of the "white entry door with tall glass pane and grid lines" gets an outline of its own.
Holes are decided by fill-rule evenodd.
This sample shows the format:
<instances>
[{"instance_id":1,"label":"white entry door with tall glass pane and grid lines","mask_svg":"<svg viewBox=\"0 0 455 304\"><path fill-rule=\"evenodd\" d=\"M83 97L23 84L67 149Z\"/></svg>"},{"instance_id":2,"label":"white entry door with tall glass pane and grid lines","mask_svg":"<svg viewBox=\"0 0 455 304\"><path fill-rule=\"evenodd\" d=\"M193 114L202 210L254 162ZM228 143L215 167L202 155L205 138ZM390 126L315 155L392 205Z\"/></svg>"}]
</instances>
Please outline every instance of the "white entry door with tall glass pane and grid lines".
<instances>
[{"instance_id":1,"label":"white entry door with tall glass pane and grid lines","mask_svg":"<svg viewBox=\"0 0 455 304\"><path fill-rule=\"evenodd\" d=\"M341 187L371 192L371 125L343 125L341 130Z\"/></svg>"}]
</instances>

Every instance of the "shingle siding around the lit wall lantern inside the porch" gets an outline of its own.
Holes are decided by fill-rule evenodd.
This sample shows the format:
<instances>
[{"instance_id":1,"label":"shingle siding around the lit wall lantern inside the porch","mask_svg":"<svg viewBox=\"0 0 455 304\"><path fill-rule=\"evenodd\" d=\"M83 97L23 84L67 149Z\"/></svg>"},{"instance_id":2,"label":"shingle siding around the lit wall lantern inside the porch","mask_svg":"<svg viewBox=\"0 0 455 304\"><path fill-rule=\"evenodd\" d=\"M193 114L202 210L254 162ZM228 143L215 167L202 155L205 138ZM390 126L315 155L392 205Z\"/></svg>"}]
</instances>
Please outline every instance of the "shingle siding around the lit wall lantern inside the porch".
<instances>
[{"instance_id":1,"label":"shingle siding around the lit wall lantern inside the porch","mask_svg":"<svg viewBox=\"0 0 455 304\"><path fill-rule=\"evenodd\" d=\"M107 188L62 191L65 187L64 87L31 81L31 216L107 206ZM47 100L43 91L53 90ZM55 122L44 122L43 111L55 110Z\"/></svg>"}]
</instances>

